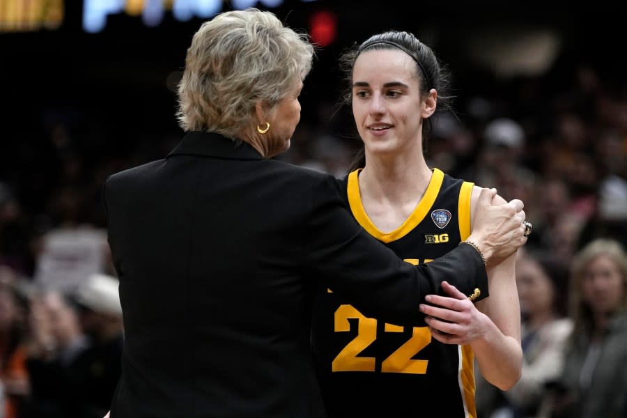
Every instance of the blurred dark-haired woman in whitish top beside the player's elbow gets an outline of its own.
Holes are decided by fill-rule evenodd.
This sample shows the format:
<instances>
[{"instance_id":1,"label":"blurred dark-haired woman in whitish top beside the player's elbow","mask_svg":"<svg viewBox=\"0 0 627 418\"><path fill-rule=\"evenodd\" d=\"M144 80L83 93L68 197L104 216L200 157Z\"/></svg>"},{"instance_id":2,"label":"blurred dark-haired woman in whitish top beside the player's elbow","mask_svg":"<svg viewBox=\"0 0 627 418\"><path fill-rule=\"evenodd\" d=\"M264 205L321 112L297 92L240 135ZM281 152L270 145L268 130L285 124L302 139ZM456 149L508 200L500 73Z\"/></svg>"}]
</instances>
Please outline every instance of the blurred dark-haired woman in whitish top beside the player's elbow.
<instances>
[{"instance_id":1,"label":"blurred dark-haired woman in whitish top beside the player's elbow","mask_svg":"<svg viewBox=\"0 0 627 418\"><path fill-rule=\"evenodd\" d=\"M568 268L558 258L518 250L516 283L522 313L522 376L502 392L480 376L477 412L480 417L536 417L545 383L562 373L564 346L572 322L566 318Z\"/></svg>"}]
</instances>

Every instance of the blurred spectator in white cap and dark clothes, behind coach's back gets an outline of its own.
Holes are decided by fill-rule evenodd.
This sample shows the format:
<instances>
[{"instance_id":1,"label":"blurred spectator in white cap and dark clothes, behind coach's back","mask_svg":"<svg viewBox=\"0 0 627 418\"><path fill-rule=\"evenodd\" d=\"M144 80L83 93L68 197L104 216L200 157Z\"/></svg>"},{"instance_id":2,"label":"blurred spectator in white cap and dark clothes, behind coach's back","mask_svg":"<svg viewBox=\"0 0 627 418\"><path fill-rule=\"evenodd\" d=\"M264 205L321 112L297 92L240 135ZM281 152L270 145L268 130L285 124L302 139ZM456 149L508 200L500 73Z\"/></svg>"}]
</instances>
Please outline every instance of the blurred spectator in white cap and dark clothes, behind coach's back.
<instances>
[{"instance_id":1,"label":"blurred spectator in white cap and dark clothes, behind coach's back","mask_svg":"<svg viewBox=\"0 0 627 418\"><path fill-rule=\"evenodd\" d=\"M20 418L102 418L121 373L118 279L93 274L75 294L41 291L31 302L31 396Z\"/></svg>"}]
</instances>

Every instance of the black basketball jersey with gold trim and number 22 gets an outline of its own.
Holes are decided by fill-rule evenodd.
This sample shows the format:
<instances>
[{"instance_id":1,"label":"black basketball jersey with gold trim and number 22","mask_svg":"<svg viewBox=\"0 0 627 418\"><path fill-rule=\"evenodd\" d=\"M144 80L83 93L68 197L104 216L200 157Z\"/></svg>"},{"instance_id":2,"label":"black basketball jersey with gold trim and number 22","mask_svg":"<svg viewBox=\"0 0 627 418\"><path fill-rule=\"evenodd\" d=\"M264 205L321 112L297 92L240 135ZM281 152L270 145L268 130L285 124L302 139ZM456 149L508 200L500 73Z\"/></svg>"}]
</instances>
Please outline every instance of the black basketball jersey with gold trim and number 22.
<instances>
[{"instance_id":1,"label":"black basketball jersey with gold trim and number 22","mask_svg":"<svg viewBox=\"0 0 627 418\"><path fill-rule=\"evenodd\" d=\"M353 171L339 180L353 216L409 263L428 263L470 235L473 183L433 170L412 214L384 233L362 206ZM440 343L428 327L366 318L325 289L316 298L311 339L330 418L476 417L470 346Z\"/></svg>"}]
</instances>

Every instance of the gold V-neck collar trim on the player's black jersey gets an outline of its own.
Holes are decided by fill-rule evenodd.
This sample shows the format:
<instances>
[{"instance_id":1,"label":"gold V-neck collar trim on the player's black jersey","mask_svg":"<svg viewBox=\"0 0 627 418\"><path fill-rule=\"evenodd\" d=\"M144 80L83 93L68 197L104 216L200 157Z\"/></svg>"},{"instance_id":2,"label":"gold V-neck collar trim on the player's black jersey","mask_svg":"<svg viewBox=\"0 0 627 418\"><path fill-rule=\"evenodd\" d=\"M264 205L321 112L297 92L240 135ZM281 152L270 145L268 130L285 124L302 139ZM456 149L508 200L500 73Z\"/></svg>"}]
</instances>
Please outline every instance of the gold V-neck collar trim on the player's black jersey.
<instances>
[{"instance_id":1,"label":"gold V-neck collar trim on the player's black jersey","mask_svg":"<svg viewBox=\"0 0 627 418\"><path fill-rule=\"evenodd\" d=\"M438 193L440 192L440 187L442 187L442 180L444 180L444 173L439 169L433 169L433 175L431 176L431 180L429 180L429 184L424 192L424 196L420 199L416 208L413 212L405 219L405 222L398 226L397 229L390 232L383 232L377 228L377 226L371 221L371 219L366 214L366 210L362 205L362 195L359 193L359 171L362 169L357 169L348 175L348 204L350 205L350 211L353 212L353 216L370 235L378 240L385 242L392 242L403 238L405 235L410 233L427 215L428 211L433 206L435 199L438 197ZM472 188L471 188L472 190ZM470 199L470 198L469 198ZM470 200L469 200L470 202ZM461 205L461 199L460 203ZM468 231L470 235L470 215L468 217Z\"/></svg>"}]
</instances>

